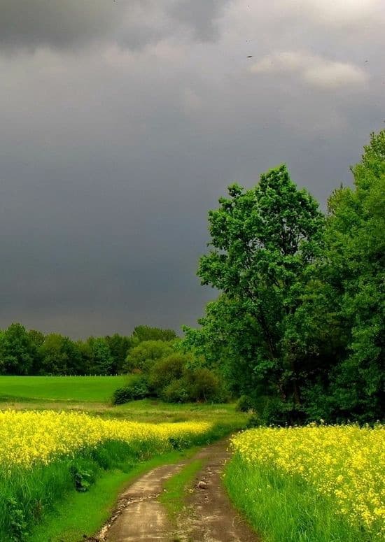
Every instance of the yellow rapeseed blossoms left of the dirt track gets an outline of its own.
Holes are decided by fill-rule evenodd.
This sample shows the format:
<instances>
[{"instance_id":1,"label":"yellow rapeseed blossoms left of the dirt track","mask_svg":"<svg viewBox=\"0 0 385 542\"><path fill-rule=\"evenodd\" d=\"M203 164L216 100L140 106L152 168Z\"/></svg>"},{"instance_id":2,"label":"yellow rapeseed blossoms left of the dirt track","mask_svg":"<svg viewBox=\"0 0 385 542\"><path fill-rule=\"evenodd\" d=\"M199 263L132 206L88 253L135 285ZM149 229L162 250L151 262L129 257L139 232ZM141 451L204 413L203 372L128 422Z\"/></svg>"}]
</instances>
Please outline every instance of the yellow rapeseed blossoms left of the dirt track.
<instances>
[{"instance_id":1,"label":"yellow rapeseed blossoms left of the dirt track","mask_svg":"<svg viewBox=\"0 0 385 542\"><path fill-rule=\"evenodd\" d=\"M103 420L83 413L0 412L0 468L29 468L49 464L63 455L75 455L88 446L108 440L156 445L159 452L170 448L169 438L188 439L211 429L207 422L139 423Z\"/></svg>"}]
</instances>

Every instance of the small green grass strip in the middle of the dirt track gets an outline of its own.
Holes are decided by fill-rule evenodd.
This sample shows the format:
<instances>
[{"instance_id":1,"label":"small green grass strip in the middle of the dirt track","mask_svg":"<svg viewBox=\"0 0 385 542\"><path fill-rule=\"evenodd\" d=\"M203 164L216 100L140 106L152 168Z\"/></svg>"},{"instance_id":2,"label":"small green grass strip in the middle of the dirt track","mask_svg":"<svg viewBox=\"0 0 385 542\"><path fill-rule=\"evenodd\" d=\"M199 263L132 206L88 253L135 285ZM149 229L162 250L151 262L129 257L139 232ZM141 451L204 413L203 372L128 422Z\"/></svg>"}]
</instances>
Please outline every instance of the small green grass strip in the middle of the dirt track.
<instances>
[{"instance_id":1,"label":"small green grass strip in the middle of the dirt track","mask_svg":"<svg viewBox=\"0 0 385 542\"><path fill-rule=\"evenodd\" d=\"M202 465L202 459L193 459L165 483L165 492L160 494L158 500L167 508L172 519L175 520L183 510L188 489Z\"/></svg>"}]
</instances>

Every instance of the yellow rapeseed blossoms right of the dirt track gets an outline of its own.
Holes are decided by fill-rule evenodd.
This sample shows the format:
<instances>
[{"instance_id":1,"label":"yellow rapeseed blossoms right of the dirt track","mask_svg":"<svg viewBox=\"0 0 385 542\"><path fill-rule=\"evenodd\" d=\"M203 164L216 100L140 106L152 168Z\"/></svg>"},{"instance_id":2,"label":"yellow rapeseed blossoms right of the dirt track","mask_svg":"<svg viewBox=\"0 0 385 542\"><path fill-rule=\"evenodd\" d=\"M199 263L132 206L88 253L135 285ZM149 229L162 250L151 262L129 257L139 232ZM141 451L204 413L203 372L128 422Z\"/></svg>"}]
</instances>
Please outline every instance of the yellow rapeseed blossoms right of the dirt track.
<instances>
[{"instance_id":1,"label":"yellow rapeseed blossoms right of the dirt track","mask_svg":"<svg viewBox=\"0 0 385 542\"><path fill-rule=\"evenodd\" d=\"M351 525L385 534L385 426L250 429L232 438L249 466L298 476L332 499Z\"/></svg>"}]
</instances>

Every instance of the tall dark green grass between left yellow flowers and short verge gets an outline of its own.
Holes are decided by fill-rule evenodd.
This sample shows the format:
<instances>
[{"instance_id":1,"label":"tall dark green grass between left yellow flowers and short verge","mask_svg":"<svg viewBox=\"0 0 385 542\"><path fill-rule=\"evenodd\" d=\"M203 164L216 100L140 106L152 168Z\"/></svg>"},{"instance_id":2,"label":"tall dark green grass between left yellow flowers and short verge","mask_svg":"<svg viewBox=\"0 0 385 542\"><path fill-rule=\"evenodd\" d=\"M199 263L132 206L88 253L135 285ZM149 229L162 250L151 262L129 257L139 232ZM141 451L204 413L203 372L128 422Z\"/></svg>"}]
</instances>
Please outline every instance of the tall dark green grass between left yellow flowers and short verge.
<instances>
[{"instance_id":1,"label":"tall dark green grass between left yellow flowers and short verge","mask_svg":"<svg viewBox=\"0 0 385 542\"><path fill-rule=\"evenodd\" d=\"M32 468L13 466L0 471L0 542L28 539L34 525L52 511L55 504L73 491L87 491L95 480L111 469L128 472L138 462L155 455L209 443L229 427L209 426L206 432L170 435L167 443L156 438L132 442L107 440L73 454Z\"/></svg>"}]
</instances>

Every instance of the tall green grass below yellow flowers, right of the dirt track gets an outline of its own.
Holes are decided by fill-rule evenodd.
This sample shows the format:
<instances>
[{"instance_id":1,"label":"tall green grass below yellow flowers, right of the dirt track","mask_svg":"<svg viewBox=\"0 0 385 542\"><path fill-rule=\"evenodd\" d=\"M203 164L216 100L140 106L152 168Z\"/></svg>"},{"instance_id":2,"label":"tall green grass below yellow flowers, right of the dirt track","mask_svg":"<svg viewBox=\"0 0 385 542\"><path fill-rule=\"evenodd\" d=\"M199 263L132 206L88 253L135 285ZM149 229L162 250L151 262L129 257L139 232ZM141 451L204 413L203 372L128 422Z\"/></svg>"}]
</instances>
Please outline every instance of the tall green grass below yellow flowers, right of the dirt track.
<instances>
[{"instance_id":1,"label":"tall green grass below yellow flowers, right of the dirt track","mask_svg":"<svg viewBox=\"0 0 385 542\"><path fill-rule=\"evenodd\" d=\"M303 480L247 464L237 454L224 480L235 506L264 542L374 542Z\"/></svg>"}]
</instances>

